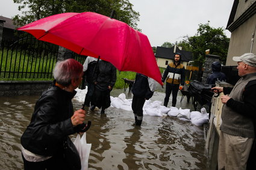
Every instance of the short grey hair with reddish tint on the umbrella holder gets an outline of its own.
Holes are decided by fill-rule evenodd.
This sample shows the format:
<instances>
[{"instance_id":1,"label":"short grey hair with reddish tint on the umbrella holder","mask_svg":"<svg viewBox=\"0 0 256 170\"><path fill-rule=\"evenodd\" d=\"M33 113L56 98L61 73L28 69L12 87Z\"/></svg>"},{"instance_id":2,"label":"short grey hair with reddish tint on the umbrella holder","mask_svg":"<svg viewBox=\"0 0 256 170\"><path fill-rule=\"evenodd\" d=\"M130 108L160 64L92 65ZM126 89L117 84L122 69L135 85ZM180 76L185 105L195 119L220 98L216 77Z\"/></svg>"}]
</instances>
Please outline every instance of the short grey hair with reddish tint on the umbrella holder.
<instances>
[{"instance_id":1,"label":"short grey hair with reddish tint on the umbrella holder","mask_svg":"<svg viewBox=\"0 0 256 170\"><path fill-rule=\"evenodd\" d=\"M83 65L75 59L69 58L64 61L58 61L52 73L57 83L67 87L72 79L78 79L83 73Z\"/></svg>"}]
</instances>

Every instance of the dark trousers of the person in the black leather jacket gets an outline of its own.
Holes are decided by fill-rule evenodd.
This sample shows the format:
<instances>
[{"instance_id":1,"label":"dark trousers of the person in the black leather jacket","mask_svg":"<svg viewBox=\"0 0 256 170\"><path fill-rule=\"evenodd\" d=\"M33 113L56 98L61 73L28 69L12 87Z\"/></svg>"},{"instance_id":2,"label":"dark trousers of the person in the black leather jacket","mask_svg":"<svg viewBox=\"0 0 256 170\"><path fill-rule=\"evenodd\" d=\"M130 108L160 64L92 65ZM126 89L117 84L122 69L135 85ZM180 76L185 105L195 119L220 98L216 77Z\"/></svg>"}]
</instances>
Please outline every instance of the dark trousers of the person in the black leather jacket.
<instances>
[{"instance_id":1,"label":"dark trousers of the person in the black leather jacket","mask_svg":"<svg viewBox=\"0 0 256 170\"><path fill-rule=\"evenodd\" d=\"M52 156L51 158L42 162L28 162L22 155L24 169L25 170L67 170L67 165L65 165L63 156Z\"/></svg>"}]
</instances>

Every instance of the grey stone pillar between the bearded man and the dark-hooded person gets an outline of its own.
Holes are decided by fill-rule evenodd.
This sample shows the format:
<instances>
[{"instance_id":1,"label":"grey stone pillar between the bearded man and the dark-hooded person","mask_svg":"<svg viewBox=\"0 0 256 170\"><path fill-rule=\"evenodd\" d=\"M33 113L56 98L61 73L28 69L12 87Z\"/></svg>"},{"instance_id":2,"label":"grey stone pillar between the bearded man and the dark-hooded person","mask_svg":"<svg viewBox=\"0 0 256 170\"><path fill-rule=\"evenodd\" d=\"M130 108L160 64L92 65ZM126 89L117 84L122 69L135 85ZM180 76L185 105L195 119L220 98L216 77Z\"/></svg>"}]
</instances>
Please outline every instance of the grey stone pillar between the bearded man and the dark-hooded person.
<instances>
[{"instance_id":1,"label":"grey stone pillar between the bearded man and the dark-hooded person","mask_svg":"<svg viewBox=\"0 0 256 170\"><path fill-rule=\"evenodd\" d=\"M217 55L205 55L205 62L204 62L204 73L202 74L202 83L207 81L207 77L212 73L211 64L214 61L219 61L220 56Z\"/></svg>"}]
</instances>

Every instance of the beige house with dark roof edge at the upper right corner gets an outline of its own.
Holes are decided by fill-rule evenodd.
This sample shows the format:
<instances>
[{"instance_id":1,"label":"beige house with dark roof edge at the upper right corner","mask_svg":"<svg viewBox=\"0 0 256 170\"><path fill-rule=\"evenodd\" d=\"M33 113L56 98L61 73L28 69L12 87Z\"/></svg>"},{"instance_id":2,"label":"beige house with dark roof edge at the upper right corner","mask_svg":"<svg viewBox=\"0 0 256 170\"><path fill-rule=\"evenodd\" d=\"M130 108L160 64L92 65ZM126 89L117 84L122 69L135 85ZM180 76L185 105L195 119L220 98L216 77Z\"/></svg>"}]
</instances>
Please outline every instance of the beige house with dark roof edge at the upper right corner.
<instances>
[{"instance_id":1,"label":"beige house with dark roof edge at the upper right corner","mask_svg":"<svg viewBox=\"0 0 256 170\"><path fill-rule=\"evenodd\" d=\"M226 29L231 32L226 66L237 65L232 59L233 56L247 52L256 53L256 1L234 0Z\"/></svg>"}]
</instances>

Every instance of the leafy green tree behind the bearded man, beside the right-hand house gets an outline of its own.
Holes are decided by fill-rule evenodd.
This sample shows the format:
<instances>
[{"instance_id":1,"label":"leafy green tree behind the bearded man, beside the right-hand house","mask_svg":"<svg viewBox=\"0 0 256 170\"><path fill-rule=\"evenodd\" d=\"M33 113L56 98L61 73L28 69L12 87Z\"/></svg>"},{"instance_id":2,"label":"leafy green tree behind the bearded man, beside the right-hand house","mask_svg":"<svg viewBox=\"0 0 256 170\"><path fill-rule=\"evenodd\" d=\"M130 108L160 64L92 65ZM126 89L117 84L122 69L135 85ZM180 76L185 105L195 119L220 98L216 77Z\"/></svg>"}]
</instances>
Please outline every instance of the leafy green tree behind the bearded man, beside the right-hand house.
<instances>
[{"instance_id":1,"label":"leafy green tree behind the bearded man, beside the right-hand house","mask_svg":"<svg viewBox=\"0 0 256 170\"><path fill-rule=\"evenodd\" d=\"M210 53L219 55L223 62L226 61L228 53L229 38L226 37L223 28L212 28L209 23L209 21L205 24L200 23L196 35L186 37L184 40L192 48L193 59L199 66L199 75L201 75L202 64L205 61L205 50L210 49Z\"/></svg>"}]
</instances>

